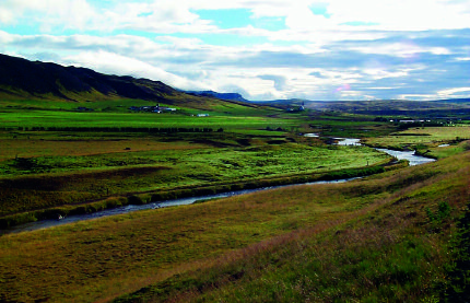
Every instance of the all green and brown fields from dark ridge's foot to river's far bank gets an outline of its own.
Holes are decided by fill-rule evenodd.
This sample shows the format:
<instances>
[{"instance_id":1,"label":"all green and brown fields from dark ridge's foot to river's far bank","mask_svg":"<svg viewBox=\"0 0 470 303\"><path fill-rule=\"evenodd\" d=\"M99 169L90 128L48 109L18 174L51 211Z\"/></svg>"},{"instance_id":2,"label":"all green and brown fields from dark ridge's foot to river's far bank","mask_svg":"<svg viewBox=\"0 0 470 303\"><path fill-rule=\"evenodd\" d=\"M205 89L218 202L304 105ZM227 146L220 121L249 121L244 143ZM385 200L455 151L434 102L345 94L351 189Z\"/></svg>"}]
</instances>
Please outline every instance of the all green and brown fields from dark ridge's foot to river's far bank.
<instances>
[{"instance_id":1,"label":"all green and brown fields from dark ridge's foot to river's far bank","mask_svg":"<svg viewBox=\"0 0 470 303\"><path fill-rule=\"evenodd\" d=\"M134 113L128 106L136 101L86 103L92 112L49 103L0 110L1 226L126 205L129 197L146 203L371 174L391 160L367 147L303 137L313 129L309 113L226 103L197 117L200 110L187 107Z\"/></svg>"}]
</instances>

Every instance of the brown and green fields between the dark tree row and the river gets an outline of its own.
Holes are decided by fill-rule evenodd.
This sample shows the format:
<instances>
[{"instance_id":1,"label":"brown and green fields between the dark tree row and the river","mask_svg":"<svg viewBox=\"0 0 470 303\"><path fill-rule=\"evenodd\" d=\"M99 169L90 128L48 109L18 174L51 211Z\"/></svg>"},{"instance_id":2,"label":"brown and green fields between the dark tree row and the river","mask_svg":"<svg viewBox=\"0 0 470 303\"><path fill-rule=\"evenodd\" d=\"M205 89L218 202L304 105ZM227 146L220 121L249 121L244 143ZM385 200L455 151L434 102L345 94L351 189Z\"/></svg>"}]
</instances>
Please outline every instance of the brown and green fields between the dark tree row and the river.
<instances>
[{"instance_id":1,"label":"brown and green fields between the dark tree row and the river","mask_svg":"<svg viewBox=\"0 0 470 303\"><path fill-rule=\"evenodd\" d=\"M325 175L341 178L349 175L338 172L373 170L390 161L389 155L367 147L325 145L315 138L295 142L285 137L274 140L231 133L188 133L186 139L178 135L177 140L142 133L9 136L3 135L9 148L0 162L0 217L14 215L3 220L7 225L46 215L26 212L64 206L55 210L64 215L77 205L109 197L138 195L140 202L150 202L172 198L165 194L168 191L191 195L189 191L208 186L228 191Z\"/></svg>"}]
</instances>

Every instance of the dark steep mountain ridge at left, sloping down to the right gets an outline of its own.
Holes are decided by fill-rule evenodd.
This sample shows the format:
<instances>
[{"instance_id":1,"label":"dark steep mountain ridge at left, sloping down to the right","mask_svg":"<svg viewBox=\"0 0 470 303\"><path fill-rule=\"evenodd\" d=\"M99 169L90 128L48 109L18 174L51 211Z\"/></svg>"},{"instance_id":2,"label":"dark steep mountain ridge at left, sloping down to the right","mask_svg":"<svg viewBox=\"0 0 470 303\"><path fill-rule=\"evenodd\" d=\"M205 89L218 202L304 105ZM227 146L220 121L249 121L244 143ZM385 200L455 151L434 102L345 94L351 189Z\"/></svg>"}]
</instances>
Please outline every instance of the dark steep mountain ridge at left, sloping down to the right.
<instances>
[{"instance_id":1,"label":"dark steep mountain ridge at left, sloping down to the right","mask_svg":"<svg viewBox=\"0 0 470 303\"><path fill-rule=\"evenodd\" d=\"M30 61L0 54L0 100L103 101L145 100L195 108L223 104L214 96L198 96L160 81L103 74L86 68ZM244 106L257 107L238 101Z\"/></svg>"}]
</instances>

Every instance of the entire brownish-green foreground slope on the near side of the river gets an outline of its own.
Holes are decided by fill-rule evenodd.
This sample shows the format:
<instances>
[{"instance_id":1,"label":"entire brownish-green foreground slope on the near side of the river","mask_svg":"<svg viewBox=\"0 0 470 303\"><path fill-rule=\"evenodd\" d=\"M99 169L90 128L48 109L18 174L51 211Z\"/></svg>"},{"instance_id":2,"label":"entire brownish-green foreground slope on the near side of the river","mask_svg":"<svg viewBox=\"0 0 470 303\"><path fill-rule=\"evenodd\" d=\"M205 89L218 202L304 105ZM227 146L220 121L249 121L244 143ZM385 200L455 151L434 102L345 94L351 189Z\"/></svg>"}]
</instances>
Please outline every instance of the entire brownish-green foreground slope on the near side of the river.
<instances>
[{"instance_id":1,"label":"entire brownish-green foreground slope on the near side of the river","mask_svg":"<svg viewBox=\"0 0 470 303\"><path fill-rule=\"evenodd\" d=\"M469 167L467 152L348 184L3 235L0 299L106 302L127 293L117 302L461 299L468 292L459 287L468 287L453 277L467 275L456 260L466 247L458 221L470 202Z\"/></svg>"}]
</instances>

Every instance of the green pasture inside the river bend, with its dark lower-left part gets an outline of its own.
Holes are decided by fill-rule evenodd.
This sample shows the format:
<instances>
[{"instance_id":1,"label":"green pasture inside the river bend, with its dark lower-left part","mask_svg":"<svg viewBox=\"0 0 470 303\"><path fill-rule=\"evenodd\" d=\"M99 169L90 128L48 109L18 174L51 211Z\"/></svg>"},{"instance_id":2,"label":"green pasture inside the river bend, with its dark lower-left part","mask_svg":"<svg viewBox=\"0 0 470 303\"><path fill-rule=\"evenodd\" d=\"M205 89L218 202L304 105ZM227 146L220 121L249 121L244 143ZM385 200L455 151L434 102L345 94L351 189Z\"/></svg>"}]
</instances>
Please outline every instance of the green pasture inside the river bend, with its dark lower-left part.
<instances>
[{"instance_id":1,"label":"green pasture inside the river bend, with its dark lower-left part","mask_svg":"<svg viewBox=\"0 0 470 303\"><path fill-rule=\"evenodd\" d=\"M389 160L367 147L298 143L11 159L0 163L0 214L127 193L320 176Z\"/></svg>"}]
</instances>

